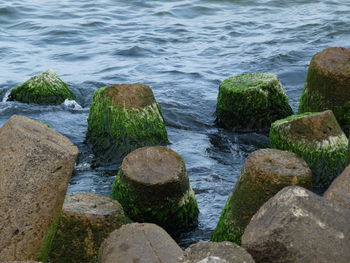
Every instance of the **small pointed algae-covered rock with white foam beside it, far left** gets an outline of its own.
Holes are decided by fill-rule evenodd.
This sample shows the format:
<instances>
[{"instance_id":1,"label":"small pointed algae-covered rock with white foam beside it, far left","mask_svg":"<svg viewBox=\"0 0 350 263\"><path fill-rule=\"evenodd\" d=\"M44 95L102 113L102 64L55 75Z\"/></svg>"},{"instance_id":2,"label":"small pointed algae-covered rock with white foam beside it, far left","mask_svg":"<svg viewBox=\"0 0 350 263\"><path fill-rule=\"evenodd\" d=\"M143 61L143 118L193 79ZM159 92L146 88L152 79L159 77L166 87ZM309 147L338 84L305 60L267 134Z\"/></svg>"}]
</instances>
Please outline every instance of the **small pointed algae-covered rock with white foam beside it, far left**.
<instances>
[{"instance_id":1,"label":"small pointed algae-covered rock with white foam beside it, far left","mask_svg":"<svg viewBox=\"0 0 350 263\"><path fill-rule=\"evenodd\" d=\"M68 85L52 70L47 70L31 77L22 85L11 90L9 101L57 105L66 99L74 100L73 92Z\"/></svg>"}]
</instances>

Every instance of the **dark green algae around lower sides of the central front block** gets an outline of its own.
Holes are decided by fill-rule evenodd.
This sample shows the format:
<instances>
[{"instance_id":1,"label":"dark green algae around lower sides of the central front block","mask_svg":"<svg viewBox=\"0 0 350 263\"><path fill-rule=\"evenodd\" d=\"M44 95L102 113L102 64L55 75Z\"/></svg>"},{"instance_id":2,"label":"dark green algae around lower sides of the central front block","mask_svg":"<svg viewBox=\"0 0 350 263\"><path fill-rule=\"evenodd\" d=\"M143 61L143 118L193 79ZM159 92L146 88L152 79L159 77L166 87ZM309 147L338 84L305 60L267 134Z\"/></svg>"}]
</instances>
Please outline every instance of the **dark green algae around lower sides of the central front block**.
<instances>
[{"instance_id":1,"label":"dark green algae around lower sides of the central front block","mask_svg":"<svg viewBox=\"0 0 350 263\"><path fill-rule=\"evenodd\" d=\"M112 199L118 200L125 214L136 222L149 222L163 227L171 234L192 229L198 223L198 204L192 190L182 198L165 198L145 205L141 196L121 178L121 170L112 187Z\"/></svg>"}]
</instances>

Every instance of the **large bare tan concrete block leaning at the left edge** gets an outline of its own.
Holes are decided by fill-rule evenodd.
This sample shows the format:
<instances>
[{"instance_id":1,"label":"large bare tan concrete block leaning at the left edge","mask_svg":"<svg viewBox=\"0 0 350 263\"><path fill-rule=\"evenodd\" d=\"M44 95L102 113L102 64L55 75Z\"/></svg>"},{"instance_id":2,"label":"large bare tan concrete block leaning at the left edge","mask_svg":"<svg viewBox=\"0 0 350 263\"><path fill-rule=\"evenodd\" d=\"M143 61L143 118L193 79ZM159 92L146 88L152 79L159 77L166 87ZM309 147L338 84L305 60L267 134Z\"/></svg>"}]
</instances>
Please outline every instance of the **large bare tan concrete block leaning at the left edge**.
<instances>
[{"instance_id":1,"label":"large bare tan concrete block leaning at the left edge","mask_svg":"<svg viewBox=\"0 0 350 263\"><path fill-rule=\"evenodd\" d=\"M1 259L45 261L78 149L14 115L0 129L0 152Z\"/></svg>"}]
</instances>

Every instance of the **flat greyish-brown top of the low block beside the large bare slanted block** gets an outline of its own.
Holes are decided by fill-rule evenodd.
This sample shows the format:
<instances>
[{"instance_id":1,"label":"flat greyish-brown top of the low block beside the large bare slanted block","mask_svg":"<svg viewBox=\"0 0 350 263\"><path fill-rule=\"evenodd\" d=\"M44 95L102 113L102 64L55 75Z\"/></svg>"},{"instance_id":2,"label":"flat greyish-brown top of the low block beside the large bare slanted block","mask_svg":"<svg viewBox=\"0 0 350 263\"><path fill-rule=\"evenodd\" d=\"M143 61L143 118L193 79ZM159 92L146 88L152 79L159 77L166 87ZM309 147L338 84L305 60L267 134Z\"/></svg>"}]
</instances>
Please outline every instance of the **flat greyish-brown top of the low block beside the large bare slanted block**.
<instances>
[{"instance_id":1,"label":"flat greyish-brown top of the low block beside the large bare slanted block","mask_svg":"<svg viewBox=\"0 0 350 263\"><path fill-rule=\"evenodd\" d=\"M109 197L93 193L67 194L63 204L64 213L80 215L112 215L122 210L121 205Z\"/></svg>"}]
</instances>

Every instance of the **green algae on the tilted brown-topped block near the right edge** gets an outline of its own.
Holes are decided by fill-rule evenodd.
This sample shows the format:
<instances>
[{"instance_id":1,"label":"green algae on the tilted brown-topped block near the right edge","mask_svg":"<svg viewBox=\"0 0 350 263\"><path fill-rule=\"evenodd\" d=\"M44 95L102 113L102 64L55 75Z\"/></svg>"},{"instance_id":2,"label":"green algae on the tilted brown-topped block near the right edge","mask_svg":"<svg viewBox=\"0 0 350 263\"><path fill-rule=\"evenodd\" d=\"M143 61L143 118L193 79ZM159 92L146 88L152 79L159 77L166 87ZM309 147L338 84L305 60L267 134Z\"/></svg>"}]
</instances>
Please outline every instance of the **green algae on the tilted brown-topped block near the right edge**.
<instances>
[{"instance_id":1,"label":"green algae on the tilted brown-topped block near the right edge","mask_svg":"<svg viewBox=\"0 0 350 263\"><path fill-rule=\"evenodd\" d=\"M348 140L344 134L330 138L326 144L293 140L290 127L283 124L310 114L312 113L303 113L288 120L274 122L270 129L269 140L272 148L294 152L303 158L313 173L313 190L316 193L323 193L347 165Z\"/></svg>"}]
</instances>

